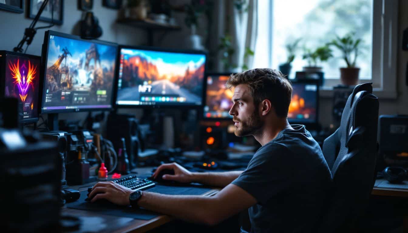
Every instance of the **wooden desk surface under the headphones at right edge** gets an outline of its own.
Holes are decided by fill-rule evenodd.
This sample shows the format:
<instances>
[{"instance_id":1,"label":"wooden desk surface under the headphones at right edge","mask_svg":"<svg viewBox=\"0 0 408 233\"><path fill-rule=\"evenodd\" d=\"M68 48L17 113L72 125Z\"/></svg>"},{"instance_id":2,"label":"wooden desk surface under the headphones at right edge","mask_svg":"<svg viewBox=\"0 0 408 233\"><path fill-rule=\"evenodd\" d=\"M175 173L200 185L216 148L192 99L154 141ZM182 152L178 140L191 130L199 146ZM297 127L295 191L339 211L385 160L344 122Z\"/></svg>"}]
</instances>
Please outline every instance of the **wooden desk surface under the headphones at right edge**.
<instances>
[{"instance_id":1,"label":"wooden desk surface under the headphones at right edge","mask_svg":"<svg viewBox=\"0 0 408 233\"><path fill-rule=\"evenodd\" d=\"M408 182L404 184L390 184L385 179L375 180L371 195L388 197L408 197Z\"/></svg>"}]
</instances>

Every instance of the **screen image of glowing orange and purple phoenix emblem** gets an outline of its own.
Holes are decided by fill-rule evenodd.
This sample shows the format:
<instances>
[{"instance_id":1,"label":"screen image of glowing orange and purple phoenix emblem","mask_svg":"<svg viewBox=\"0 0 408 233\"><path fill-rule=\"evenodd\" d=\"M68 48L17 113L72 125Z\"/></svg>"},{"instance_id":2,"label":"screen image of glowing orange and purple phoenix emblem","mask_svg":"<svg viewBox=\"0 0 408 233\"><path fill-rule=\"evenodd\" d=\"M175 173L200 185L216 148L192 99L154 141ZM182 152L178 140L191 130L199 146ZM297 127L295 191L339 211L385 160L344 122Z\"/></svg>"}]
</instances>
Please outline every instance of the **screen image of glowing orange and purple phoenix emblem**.
<instances>
[{"instance_id":1,"label":"screen image of glowing orange and purple phoenix emblem","mask_svg":"<svg viewBox=\"0 0 408 233\"><path fill-rule=\"evenodd\" d=\"M21 120L38 118L40 58L7 54L5 67L4 95L19 100Z\"/></svg>"}]
</instances>

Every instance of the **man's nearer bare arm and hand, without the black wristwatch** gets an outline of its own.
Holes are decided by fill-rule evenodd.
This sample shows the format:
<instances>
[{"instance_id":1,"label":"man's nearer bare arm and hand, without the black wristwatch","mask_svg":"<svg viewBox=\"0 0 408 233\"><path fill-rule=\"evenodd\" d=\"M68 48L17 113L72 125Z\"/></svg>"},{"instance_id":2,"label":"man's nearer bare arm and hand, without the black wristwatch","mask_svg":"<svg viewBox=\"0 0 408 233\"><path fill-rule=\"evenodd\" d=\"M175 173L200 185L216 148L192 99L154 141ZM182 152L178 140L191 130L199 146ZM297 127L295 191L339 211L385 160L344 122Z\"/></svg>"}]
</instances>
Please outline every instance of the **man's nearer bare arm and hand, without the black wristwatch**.
<instances>
[{"instance_id":1,"label":"man's nearer bare arm and hand, without the black wristwatch","mask_svg":"<svg viewBox=\"0 0 408 233\"><path fill-rule=\"evenodd\" d=\"M104 198L110 202L129 205L129 195L133 192L115 182L95 184L91 202ZM215 225L257 203L255 197L235 184L229 184L211 197L193 195L164 195L144 191L137 205L151 211L208 225Z\"/></svg>"}]
</instances>

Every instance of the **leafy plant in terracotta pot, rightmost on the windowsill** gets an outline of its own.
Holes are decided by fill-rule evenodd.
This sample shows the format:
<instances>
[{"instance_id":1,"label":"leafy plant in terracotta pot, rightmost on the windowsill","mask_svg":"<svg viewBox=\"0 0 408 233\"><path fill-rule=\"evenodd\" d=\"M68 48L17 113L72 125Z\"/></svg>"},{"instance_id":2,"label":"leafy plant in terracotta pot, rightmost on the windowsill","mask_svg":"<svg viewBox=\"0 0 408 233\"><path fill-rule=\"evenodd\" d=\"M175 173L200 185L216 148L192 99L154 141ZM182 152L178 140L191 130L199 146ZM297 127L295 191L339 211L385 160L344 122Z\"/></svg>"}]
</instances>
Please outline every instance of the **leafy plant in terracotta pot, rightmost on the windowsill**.
<instances>
[{"instance_id":1,"label":"leafy plant in terracotta pot, rightmost on the windowsill","mask_svg":"<svg viewBox=\"0 0 408 233\"><path fill-rule=\"evenodd\" d=\"M335 46L343 53L343 59L347 67L340 68L340 80L345 85L356 85L359 78L360 68L356 67L361 39L354 38L355 33L347 33L344 37L336 36L329 45Z\"/></svg>"}]
</instances>

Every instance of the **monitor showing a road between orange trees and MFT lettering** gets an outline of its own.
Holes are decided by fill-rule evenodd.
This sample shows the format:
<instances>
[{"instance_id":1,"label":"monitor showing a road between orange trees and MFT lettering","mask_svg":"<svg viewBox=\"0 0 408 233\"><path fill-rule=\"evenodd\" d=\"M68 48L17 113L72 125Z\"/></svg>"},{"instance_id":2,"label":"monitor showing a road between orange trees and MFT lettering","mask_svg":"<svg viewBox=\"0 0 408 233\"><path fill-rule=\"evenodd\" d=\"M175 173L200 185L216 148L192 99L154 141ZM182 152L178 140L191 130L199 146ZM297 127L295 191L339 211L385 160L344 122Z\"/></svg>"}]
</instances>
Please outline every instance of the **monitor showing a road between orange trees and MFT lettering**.
<instances>
[{"instance_id":1,"label":"monitor showing a road between orange trees and MFT lettering","mask_svg":"<svg viewBox=\"0 0 408 233\"><path fill-rule=\"evenodd\" d=\"M120 47L116 107L202 107L206 53Z\"/></svg>"}]
</instances>

